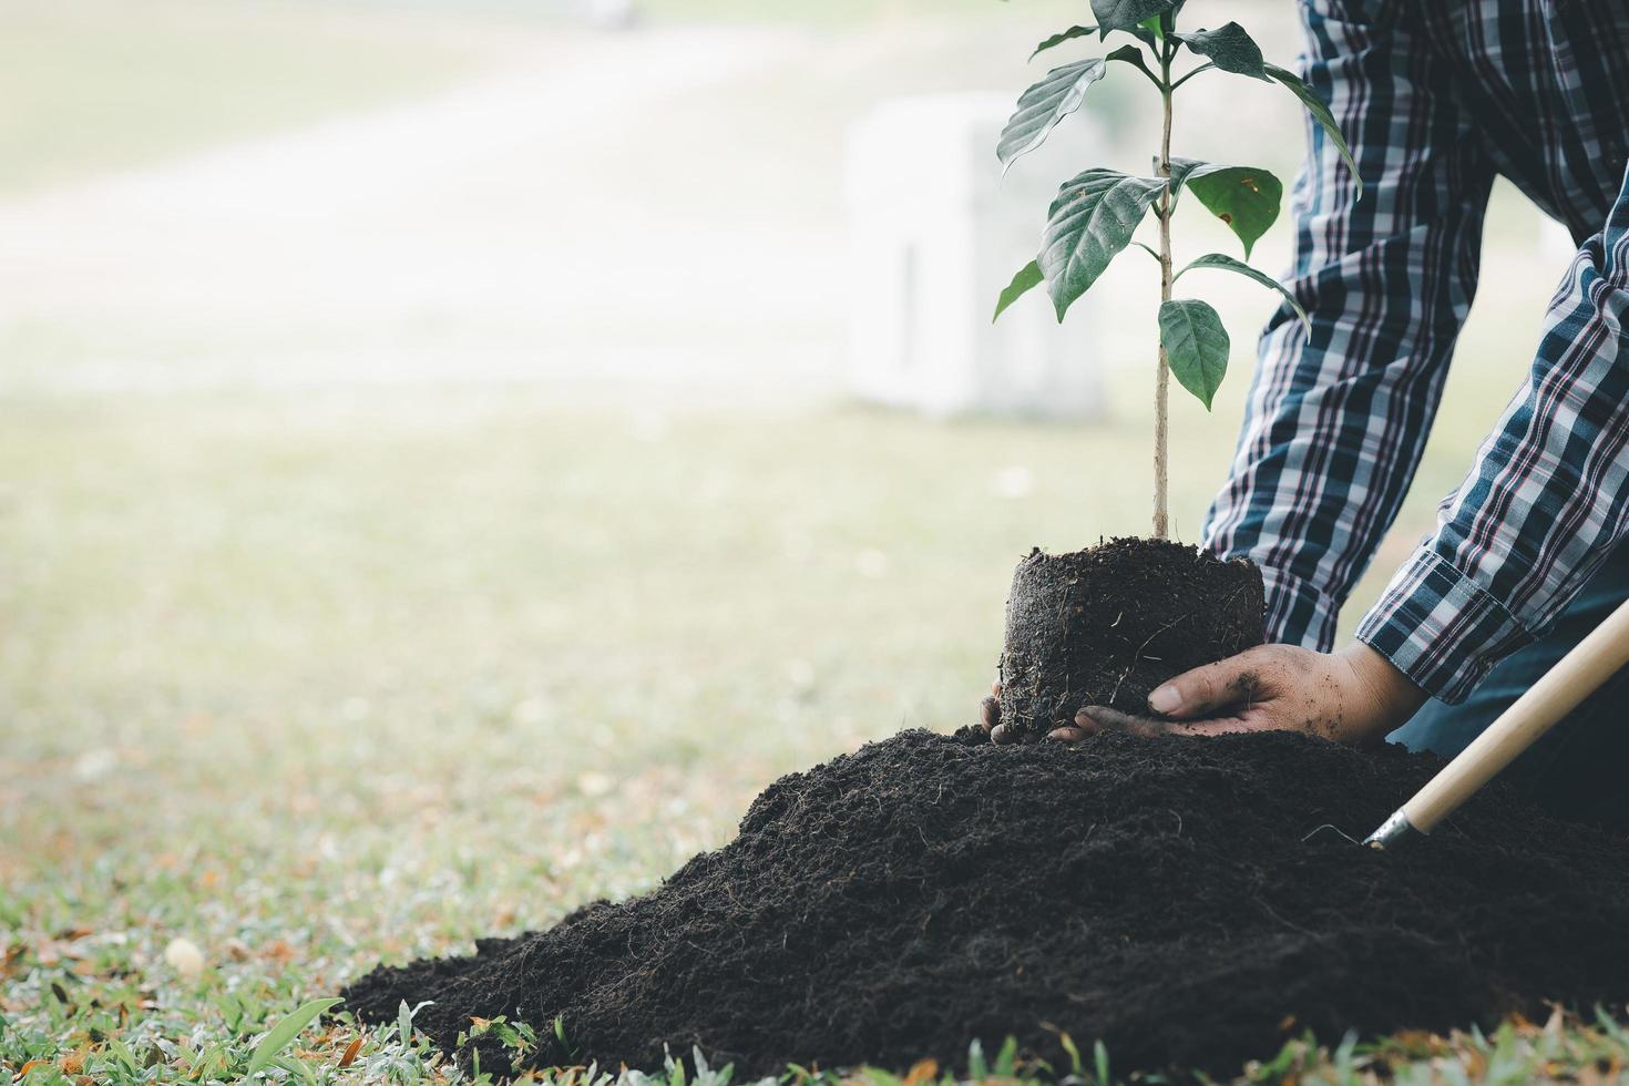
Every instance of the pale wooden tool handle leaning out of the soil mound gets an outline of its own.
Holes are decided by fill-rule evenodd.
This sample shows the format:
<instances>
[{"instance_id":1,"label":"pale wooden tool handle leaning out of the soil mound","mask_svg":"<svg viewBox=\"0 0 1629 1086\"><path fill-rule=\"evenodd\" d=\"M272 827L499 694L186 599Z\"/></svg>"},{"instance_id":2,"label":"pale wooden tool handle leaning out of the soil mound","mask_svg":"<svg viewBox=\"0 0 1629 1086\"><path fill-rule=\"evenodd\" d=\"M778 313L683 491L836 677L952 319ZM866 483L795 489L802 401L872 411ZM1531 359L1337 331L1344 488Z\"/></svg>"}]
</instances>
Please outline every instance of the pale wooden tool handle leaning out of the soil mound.
<instances>
[{"instance_id":1,"label":"pale wooden tool handle leaning out of the soil mound","mask_svg":"<svg viewBox=\"0 0 1629 1086\"><path fill-rule=\"evenodd\" d=\"M1549 669L1549 674L1535 682L1487 731L1461 751L1460 757L1448 762L1447 769L1403 804L1409 824L1420 834L1437 829L1438 822L1458 811L1460 804L1533 746L1556 721L1575 710L1579 702L1601 689L1601 684L1626 663L1629 663L1629 602L1595 627L1577 648Z\"/></svg>"}]
</instances>

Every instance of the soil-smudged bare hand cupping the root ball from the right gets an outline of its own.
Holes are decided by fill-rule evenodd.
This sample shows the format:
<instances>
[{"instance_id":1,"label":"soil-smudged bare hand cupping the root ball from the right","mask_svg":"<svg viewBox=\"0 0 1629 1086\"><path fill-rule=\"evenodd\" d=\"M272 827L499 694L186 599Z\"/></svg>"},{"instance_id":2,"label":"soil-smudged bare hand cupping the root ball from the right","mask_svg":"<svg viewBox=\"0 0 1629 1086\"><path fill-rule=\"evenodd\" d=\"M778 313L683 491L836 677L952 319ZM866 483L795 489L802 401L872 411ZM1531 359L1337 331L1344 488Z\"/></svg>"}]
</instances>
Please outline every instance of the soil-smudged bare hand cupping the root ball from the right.
<instances>
[{"instance_id":1,"label":"soil-smudged bare hand cupping the root ball from the right","mask_svg":"<svg viewBox=\"0 0 1629 1086\"><path fill-rule=\"evenodd\" d=\"M1078 742L1104 729L1150 736L1305 731L1357 746L1381 741L1425 697L1391 661L1360 642L1337 653L1262 645L1158 687L1148 695L1148 708L1158 716L1091 705L1075 715L1074 728L1059 728L1049 738Z\"/></svg>"}]
</instances>

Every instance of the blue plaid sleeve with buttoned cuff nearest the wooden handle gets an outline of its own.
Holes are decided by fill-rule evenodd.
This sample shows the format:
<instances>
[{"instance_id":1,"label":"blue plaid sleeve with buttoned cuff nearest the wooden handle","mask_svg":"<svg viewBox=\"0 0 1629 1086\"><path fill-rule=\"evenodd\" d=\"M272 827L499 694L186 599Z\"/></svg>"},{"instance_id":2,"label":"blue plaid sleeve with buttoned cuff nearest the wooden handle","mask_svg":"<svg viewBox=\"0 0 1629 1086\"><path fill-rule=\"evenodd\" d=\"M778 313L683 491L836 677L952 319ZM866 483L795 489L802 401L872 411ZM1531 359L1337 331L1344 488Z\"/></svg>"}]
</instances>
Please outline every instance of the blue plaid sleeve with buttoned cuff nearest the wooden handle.
<instances>
[{"instance_id":1,"label":"blue plaid sleeve with buttoned cuff nearest the wooden handle","mask_svg":"<svg viewBox=\"0 0 1629 1086\"><path fill-rule=\"evenodd\" d=\"M1541 637L1629 536L1629 174L1437 531L1357 637L1447 702Z\"/></svg>"}]
</instances>

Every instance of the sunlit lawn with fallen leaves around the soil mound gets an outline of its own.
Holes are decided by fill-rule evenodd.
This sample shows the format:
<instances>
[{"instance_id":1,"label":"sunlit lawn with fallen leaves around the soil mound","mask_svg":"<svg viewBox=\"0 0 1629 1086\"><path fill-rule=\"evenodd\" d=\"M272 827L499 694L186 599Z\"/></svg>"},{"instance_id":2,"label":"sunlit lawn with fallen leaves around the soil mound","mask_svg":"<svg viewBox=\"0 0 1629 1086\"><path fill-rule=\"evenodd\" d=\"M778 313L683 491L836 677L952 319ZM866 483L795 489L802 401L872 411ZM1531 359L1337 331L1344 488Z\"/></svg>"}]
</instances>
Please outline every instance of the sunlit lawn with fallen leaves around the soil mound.
<instances>
[{"instance_id":1,"label":"sunlit lawn with fallen leaves around the soil mound","mask_svg":"<svg viewBox=\"0 0 1629 1086\"><path fill-rule=\"evenodd\" d=\"M1186 433L1194 524L1230 433ZM0 1063L233 1081L381 959L637 892L775 775L959 725L1016 557L1140 531L1127 444L1135 420L542 392L7 402ZM1626 1055L1605 1026L1512 1029L1282 1060ZM458 1081L345 1018L280 1058L288 1081Z\"/></svg>"}]
</instances>

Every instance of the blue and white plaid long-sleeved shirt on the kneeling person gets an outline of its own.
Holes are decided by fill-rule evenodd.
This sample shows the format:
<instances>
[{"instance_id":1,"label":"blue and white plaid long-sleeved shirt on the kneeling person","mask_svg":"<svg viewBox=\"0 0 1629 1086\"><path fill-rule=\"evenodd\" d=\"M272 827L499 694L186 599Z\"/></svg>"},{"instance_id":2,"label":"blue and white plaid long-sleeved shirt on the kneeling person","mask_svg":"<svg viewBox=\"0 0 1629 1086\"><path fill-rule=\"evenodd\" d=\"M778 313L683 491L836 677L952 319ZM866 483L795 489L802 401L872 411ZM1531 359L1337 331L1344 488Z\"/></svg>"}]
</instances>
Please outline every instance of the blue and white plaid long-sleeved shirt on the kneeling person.
<instances>
[{"instance_id":1,"label":"blue and white plaid long-sleeved shirt on the kneeling person","mask_svg":"<svg viewBox=\"0 0 1629 1086\"><path fill-rule=\"evenodd\" d=\"M1302 0L1321 132L1290 288L1204 542L1267 580L1269 635L1328 650L1419 464L1476 293L1495 174L1579 254L1538 358L1359 640L1447 702L1543 637L1629 536L1629 2ZM1474 365L1469 363L1469 365Z\"/></svg>"}]
</instances>

